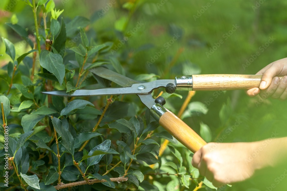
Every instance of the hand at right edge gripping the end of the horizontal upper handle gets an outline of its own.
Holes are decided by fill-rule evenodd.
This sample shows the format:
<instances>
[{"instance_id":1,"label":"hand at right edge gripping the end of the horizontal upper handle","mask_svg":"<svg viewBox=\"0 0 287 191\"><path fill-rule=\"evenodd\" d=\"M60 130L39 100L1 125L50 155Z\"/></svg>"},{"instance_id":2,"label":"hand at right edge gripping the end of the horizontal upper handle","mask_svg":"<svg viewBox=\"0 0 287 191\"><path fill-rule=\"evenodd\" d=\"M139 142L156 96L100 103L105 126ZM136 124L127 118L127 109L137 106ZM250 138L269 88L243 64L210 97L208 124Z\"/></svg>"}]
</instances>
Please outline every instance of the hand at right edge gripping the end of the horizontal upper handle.
<instances>
[{"instance_id":1,"label":"hand at right edge gripping the end of the horizontal upper handle","mask_svg":"<svg viewBox=\"0 0 287 191\"><path fill-rule=\"evenodd\" d=\"M256 74L262 74L260 86L247 90L248 96L254 97L259 94L263 99L272 97L285 100L287 98L287 58L268 64ZM280 80L278 76L284 77Z\"/></svg>"}]
</instances>

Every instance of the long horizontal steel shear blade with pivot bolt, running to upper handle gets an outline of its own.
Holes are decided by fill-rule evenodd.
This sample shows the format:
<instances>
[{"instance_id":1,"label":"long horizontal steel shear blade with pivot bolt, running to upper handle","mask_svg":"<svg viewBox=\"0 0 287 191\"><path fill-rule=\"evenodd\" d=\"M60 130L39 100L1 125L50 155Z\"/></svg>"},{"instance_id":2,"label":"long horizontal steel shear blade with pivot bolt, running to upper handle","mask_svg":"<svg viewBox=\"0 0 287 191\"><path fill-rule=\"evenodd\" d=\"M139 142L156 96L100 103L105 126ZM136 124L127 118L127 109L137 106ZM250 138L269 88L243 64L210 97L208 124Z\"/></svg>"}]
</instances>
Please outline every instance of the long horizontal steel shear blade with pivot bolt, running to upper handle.
<instances>
[{"instance_id":1,"label":"long horizontal steel shear blade with pivot bolt, running to upper handle","mask_svg":"<svg viewBox=\"0 0 287 191\"><path fill-rule=\"evenodd\" d=\"M147 83L133 84L130 87L123 88L102 88L96 90L75 90L74 92L66 93L63 91L49 91L42 92L44 94L68 96L68 97L81 97L81 96L103 96L103 95L126 95L126 94L149 94L152 90L166 87L168 83L175 85L175 80L155 80Z\"/></svg>"}]
</instances>

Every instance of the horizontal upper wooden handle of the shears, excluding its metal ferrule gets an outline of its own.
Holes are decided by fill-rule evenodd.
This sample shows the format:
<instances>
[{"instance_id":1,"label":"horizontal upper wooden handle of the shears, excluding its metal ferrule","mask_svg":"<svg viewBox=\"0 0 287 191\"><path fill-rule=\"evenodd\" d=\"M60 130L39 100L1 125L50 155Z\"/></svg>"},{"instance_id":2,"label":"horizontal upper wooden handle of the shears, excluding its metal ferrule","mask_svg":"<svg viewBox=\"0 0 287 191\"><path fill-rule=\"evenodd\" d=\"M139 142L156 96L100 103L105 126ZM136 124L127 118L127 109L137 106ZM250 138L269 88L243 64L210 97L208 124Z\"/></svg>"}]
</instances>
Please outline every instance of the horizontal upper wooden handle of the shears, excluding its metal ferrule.
<instances>
[{"instance_id":1,"label":"horizontal upper wooden handle of the shears, excluding its metal ferrule","mask_svg":"<svg viewBox=\"0 0 287 191\"><path fill-rule=\"evenodd\" d=\"M194 91L247 90L259 88L262 75L201 74L192 75ZM280 77L282 78L282 76Z\"/></svg>"}]
</instances>

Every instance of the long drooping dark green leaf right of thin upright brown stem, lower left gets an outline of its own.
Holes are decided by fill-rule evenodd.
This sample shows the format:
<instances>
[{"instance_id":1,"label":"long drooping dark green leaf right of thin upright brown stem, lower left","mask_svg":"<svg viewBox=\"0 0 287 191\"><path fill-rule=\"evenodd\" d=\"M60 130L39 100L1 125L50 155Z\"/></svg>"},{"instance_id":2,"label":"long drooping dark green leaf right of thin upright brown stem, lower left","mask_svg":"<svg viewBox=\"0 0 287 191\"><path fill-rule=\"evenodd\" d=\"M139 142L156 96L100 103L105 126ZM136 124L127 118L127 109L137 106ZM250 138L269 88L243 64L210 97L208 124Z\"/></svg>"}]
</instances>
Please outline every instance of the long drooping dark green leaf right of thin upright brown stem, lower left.
<instances>
[{"instance_id":1,"label":"long drooping dark green leaf right of thin upright brown stem, lower left","mask_svg":"<svg viewBox=\"0 0 287 191\"><path fill-rule=\"evenodd\" d=\"M60 119L53 117L52 123L57 133L62 137L62 145L68 150L71 155L74 155L75 147L74 147L74 138L70 133L69 129L63 127L62 121Z\"/></svg>"}]
</instances>

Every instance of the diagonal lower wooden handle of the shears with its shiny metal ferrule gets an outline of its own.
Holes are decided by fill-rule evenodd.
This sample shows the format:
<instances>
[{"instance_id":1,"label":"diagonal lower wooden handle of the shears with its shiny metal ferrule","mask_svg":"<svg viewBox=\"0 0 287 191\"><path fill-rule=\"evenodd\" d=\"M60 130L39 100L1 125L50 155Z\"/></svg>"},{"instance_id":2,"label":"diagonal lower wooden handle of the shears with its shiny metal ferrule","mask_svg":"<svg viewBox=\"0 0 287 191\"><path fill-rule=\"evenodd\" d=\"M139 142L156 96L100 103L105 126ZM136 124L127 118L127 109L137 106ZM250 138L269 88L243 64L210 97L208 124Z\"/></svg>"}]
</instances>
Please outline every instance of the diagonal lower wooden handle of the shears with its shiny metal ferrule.
<instances>
[{"instance_id":1,"label":"diagonal lower wooden handle of the shears with its shiny metal ferrule","mask_svg":"<svg viewBox=\"0 0 287 191\"><path fill-rule=\"evenodd\" d=\"M150 109L150 113L166 131L193 153L206 144L195 131L162 105L155 104Z\"/></svg>"}]
</instances>

